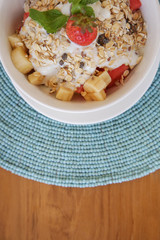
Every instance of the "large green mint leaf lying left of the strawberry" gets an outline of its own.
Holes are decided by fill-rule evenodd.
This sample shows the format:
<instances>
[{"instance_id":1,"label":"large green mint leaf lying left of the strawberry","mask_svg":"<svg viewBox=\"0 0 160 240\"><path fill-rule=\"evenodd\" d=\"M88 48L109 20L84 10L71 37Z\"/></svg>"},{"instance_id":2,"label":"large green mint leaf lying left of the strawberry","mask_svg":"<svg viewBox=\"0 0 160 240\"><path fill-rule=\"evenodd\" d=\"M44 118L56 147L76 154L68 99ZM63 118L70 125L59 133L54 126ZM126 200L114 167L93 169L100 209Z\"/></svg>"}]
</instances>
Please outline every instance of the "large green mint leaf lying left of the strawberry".
<instances>
[{"instance_id":1,"label":"large green mint leaf lying left of the strawberry","mask_svg":"<svg viewBox=\"0 0 160 240\"><path fill-rule=\"evenodd\" d=\"M40 12L36 9L29 10L29 16L38 22L48 33L56 33L68 21L69 16L62 14L59 10L52 9Z\"/></svg>"}]
</instances>

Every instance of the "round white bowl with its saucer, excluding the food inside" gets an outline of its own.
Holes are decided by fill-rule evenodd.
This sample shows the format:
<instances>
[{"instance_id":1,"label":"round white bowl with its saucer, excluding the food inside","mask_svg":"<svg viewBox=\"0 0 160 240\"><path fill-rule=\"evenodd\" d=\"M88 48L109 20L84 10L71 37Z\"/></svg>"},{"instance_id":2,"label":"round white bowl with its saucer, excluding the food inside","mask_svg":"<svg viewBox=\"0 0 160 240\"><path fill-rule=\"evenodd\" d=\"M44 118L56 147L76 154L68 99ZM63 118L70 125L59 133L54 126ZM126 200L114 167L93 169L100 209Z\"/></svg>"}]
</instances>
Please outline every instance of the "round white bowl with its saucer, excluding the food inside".
<instances>
[{"instance_id":1,"label":"round white bowl with its saucer, excluding the food inside","mask_svg":"<svg viewBox=\"0 0 160 240\"><path fill-rule=\"evenodd\" d=\"M20 95L42 114L67 123L90 124L111 119L133 106L148 89L160 60L160 7L158 0L141 0L147 22L148 40L142 62L131 72L128 81L109 94L103 102L62 102L28 83L13 65L8 36L14 33L23 16L23 0L0 0L0 58Z\"/></svg>"}]
</instances>

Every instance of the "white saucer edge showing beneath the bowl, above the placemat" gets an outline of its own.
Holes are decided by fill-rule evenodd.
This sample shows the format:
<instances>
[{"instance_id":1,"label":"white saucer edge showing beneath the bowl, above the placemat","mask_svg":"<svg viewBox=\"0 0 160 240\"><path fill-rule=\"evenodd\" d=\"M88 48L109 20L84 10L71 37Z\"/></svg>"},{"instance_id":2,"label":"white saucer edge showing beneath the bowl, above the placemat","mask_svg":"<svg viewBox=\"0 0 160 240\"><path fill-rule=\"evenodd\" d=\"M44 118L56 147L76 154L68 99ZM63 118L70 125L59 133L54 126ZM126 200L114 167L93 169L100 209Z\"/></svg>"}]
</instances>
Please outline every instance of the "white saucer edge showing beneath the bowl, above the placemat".
<instances>
[{"instance_id":1,"label":"white saucer edge showing beneath the bowl, above the placemat","mask_svg":"<svg viewBox=\"0 0 160 240\"><path fill-rule=\"evenodd\" d=\"M151 69L150 73L147 76L147 79L139 86L138 91L139 95L136 95L135 98L135 92L137 92L137 89L135 92L133 92L126 102L125 99L121 102L123 104L123 109L118 108L116 111L113 111L112 114L109 116L107 115L107 111L104 111L104 109L97 109L97 111L94 112L88 112L88 113L64 113L61 111L50 111L50 108L46 108L42 106L41 104L38 104L36 101L32 101L27 95L25 95L21 90L15 86L16 90L18 91L19 95L36 111L40 112L41 114L45 115L46 117L49 117L53 120L60 121L62 123L67 124L74 124L74 125L89 125L89 124L96 124L100 122L104 122L106 120L110 120L114 117L117 117L127 111L130 107L130 102L132 103L132 106L136 104L136 102L143 96L143 94L146 92L146 90L149 88L149 86L152 83L152 79L154 78L159 66L159 57L157 57L156 62L154 64L154 68ZM134 100L133 100L134 96ZM111 109L112 110L112 109Z\"/></svg>"}]
</instances>

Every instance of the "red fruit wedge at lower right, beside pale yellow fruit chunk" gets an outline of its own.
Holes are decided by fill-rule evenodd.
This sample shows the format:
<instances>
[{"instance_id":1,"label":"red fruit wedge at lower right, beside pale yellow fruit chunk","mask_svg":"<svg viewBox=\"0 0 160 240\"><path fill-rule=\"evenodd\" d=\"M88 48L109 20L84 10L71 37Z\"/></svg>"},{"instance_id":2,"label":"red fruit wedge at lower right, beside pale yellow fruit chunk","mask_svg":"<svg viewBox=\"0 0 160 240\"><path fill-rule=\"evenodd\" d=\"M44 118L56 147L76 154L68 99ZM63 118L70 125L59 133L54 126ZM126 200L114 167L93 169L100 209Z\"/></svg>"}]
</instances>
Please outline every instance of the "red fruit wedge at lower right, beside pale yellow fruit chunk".
<instances>
[{"instance_id":1,"label":"red fruit wedge at lower right, beside pale yellow fruit chunk","mask_svg":"<svg viewBox=\"0 0 160 240\"><path fill-rule=\"evenodd\" d=\"M115 68L115 69L113 69L111 71L108 71L112 81L111 81L111 83L107 87L112 87L117 80L121 79L121 76L124 73L124 71L126 71L128 69L129 69L129 66L123 64L123 65L121 65L118 68Z\"/></svg>"}]
</instances>

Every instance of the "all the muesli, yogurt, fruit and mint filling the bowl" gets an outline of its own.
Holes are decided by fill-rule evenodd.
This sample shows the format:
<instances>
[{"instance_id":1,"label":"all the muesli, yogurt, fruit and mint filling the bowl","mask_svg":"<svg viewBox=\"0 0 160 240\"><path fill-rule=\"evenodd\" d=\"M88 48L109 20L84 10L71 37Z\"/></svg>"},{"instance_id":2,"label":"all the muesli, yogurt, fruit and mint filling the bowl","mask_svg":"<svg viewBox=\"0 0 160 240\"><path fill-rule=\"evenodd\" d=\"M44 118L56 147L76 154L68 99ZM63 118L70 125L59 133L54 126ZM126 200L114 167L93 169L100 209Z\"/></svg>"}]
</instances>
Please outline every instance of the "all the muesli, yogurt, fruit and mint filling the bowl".
<instances>
[{"instance_id":1,"label":"all the muesli, yogurt, fruit and mint filling the bowl","mask_svg":"<svg viewBox=\"0 0 160 240\"><path fill-rule=\"evenodd\" d=\"M140 0L27 0L9 37L16 68L59 100L106 99L140 63L147 40Z\"/></svg>"}]
</instances>

